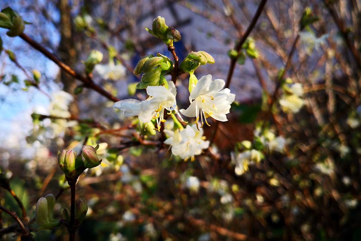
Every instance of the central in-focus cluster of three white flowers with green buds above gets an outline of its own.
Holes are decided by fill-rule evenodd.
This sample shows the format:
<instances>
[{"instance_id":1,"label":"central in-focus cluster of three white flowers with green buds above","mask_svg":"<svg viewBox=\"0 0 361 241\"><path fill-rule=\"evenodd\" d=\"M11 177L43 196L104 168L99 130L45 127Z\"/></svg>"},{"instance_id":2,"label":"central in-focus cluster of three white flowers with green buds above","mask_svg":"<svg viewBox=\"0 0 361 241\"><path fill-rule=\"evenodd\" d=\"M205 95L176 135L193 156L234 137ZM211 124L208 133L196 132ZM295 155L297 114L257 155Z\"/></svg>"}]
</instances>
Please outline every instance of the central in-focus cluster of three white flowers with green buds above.
<instances>
[{"instance_id":1,"label":"central in-focus cluster of three white flowers with green buds above","mask_svg":"<svg viewBox=\"0 0 361 241\"><path fill-rule=\"evenodd\" d=\"M153 36L160 38L168 45L168 49L174 50L173 42L181 39L177 30L165 25L164 18L157 17L153 21L153 29L146 30ZM164 142L170 145L173 155L187 160L194 160L195 155L201 154L203 149L208 148L209 141L205 141L203 130L199 129L204 124L210 126L207 118L214 120L227 121L230 112L231 103L235 100L235 95L231 94L228 88L223 89L225 81L223 79L214 79L210 74L201 77L199 80L194 71L207 63L213 64L215 61L212 56L204 51L191 52L179 65L179 69L189 73L188 90L190 92L190 105L179 112L187 117L195 117L195 125L187 125L184 128L173 115L173 111L178 115L180 121L183 120L177 108L177 88L173 81L167 81L165 76L174 76L175 67L172 61L160 53L157 56L147 55L138 61L135 66L134 74L142 74L141 81L136 85L136 89L146 89L147 98L143 101L136 99L125 99L114 104L114 108L121 110L124 116L138 116L139 122L153 126L158 132L161 124L166 122L166 115L172 115L173 120L177 122L174 130L165 130L168 139ZM155 125L154 124L154 125Z\"/></svg>"}]
</instances>

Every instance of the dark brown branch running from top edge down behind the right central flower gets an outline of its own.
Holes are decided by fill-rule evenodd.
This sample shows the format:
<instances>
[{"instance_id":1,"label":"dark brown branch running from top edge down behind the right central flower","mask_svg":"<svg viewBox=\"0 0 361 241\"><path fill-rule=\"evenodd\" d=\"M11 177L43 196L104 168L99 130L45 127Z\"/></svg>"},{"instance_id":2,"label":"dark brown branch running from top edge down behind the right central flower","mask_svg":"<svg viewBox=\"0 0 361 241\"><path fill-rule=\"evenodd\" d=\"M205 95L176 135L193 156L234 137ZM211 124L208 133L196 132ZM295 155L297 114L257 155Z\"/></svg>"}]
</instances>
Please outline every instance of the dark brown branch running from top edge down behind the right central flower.
<instances>
[{"instance_id":1,"label":"dark brown branch running from top edge down behind the right central flower","mask_svg":"<svg viewBox=\"0 0 361 241\"><path fill-rule=\"evenodd\" d=\"M237 43L236 47L235 47L235 50L239 53L239 51L241 50L242 48L242 44L245 42L245 40L247 39L248 35L251 33L252 29L255 27L256 23L257 23L257 20L258 18L261 16L261 13L262 13L262 10L264 9L265 5L266 5L266 2L267 0L262 0L260 2L260 4L258 5L258 8L256 10L256 13L255 15L253 16L252 18L252 21L251 23L249 23L249 26L247 27L247 30L245 31L245 33L243 34L242 38L239 40L239 42ZM225 88L228 88L231 84L231 80L232 80L232 75L233 75L233 72L234 72L234 68L235 68L235 65L236 65L236 61L237 61L237 58L232 58L231 59L231 64L230 64L230 67L228 69L228 74L227 74L227 79L226 79L226 85L225 85ZM216 127L214 128L214 132L213 132L213 135L212 137L210 138L210 144L213 143L214 141L214 138L216 137L216 134L217 134L217 129L218 129L218 121L216 121Z\"/></svg>"}]
</instances>

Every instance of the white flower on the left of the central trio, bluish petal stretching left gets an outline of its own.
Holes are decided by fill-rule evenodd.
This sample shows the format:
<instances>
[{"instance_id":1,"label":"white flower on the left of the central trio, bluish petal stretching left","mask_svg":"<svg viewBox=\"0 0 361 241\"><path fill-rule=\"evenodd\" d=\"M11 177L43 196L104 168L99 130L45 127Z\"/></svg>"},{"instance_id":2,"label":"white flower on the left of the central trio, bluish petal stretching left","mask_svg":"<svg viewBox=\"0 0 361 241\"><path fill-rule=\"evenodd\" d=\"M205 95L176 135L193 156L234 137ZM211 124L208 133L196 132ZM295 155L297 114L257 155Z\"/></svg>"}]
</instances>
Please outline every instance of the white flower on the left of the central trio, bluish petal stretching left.
<instances>
[{"instance_id":1,"label":"white flower on the left of the central trio, bluish petal stretching left","mask_svg":"<svg viewBox=\"0 0 361 241\"><path fill-rule=\"evenodd\" d=\"M160 123L165 122L164 110L171 111L175 108L175 95L177 89L172 81L168 81L169 89L164 86L148 86L149 97L140 102L136 99L125 99L114 104L114 108L120 109L127 117L138 116L139 120L147 123L152 119L157 119L158 131Z\"/></svg>"}]
</instances>

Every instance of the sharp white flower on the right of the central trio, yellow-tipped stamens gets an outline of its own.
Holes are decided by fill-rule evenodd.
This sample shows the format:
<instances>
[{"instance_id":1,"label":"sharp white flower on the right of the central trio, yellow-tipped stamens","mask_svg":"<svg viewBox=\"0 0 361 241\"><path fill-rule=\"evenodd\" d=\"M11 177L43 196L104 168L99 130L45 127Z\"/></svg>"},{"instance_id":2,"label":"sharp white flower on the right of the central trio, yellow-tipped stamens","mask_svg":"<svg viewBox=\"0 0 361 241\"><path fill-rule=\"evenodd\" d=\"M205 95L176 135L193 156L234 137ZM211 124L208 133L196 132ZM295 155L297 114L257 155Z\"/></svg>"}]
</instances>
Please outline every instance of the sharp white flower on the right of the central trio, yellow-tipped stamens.
<instances>
[{"instance_id":1,"label":"sharp white flower on the right of the central trio, yellow-tipped stamens","mask_svg":"<svg viewBox=\"0 0 361 241\"><path fill-rule=\"evenodd\" d=\"M225 81L223 79L212 80L210 74L201 77L189 96L190 106L187 109L181 109L180 112L188 117L196 117L194 123L197 124L197 127L199 115L202 126L203 117L208 126L207 117L212 117L218 121L227 121L226 114L229 113L235 95L231 94L228 88L222 90L224 86Z\"/></svg>"}]
</instances>

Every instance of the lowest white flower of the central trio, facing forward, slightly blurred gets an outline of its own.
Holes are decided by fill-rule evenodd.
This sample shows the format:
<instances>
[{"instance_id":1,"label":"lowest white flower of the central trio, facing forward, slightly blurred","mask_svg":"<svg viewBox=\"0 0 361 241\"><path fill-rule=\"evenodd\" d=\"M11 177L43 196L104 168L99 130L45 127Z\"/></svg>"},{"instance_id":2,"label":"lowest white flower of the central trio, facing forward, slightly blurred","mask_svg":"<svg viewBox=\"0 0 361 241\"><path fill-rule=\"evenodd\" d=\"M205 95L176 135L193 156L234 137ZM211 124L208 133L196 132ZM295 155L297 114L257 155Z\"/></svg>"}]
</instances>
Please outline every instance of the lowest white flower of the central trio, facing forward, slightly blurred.
<instances>
[{"instance_id":1,"label":"lowest white flower of the central trio, facing forward, slightly blurred","mask_svg":"<svg viewBox=\"0 0 361 241\"><path fill-rule=\"evenodd\" d=\"M196 125L187 125L181 131L179 129L174 132L164 130L169 138L164 141L165 144L171 146L172 154L187 160L194 160L195 155L202 153L203 149L208 148L209 141L204 141L203 129L198 130Z\"/></svg>"}]
</instances>

